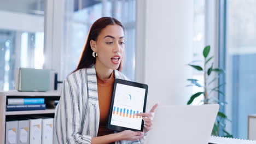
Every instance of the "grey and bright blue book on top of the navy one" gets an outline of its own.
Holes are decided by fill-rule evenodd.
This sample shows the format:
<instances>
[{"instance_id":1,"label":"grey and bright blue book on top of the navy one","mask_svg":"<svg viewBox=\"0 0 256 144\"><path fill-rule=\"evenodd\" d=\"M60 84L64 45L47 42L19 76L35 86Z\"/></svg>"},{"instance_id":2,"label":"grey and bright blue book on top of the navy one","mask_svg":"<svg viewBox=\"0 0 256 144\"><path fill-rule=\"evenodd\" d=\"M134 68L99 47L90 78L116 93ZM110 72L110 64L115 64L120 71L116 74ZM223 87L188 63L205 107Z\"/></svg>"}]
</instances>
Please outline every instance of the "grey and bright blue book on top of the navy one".
<instances>
[{"instance_id":1,"label":"grey and bright blue book on top of the navy one","mask_svg":"<svg viewBox=\"0 0 256 144\"><path fill-rule=\"evenodd\" d=\"M8 105L44 104L44 98L8 98Z\"/></svg>"}]
</instances>

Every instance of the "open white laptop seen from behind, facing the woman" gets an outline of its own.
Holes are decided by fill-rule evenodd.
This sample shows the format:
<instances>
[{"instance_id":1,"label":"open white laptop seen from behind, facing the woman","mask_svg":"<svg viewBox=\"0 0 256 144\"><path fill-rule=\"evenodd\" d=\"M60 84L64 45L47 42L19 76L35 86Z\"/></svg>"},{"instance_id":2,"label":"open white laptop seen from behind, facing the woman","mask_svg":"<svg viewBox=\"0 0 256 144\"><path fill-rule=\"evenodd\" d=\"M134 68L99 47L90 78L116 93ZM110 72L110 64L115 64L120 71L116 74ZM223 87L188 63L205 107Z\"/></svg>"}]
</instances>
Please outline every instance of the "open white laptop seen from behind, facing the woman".
<instances>
[{"instance_id":1,"label":"open white laptop seen from behind, facing the woman","mask_svg":"<svg viewBox=\"0 0 256 144\"><path fill-rule=\"evenodd\" d=\"M207 144L218 110L218 104L159 106L145 143Z\"/></svg>"}]
</instances>

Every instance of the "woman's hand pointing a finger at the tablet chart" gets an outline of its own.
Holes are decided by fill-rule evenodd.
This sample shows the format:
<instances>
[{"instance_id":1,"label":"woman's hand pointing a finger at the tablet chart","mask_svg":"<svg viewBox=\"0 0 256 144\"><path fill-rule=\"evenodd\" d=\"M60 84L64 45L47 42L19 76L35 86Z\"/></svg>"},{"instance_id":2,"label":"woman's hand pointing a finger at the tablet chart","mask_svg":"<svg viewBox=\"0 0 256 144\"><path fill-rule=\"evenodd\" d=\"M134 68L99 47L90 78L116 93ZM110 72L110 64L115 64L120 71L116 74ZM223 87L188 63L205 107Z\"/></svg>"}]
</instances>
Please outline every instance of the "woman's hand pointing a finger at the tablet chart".
<instances>
[{"instance_id":1,"label":"woman's hand pointing a finger at the tablet chart","mask_svg":"<svg viewBox=\"0 0 256 144\"><path fill-rule=\"evenodd\" d=\"M135 114L136 116L142 116L142 119L144 121L144 132L145 133L147 133L152 128L154 112L155 112L156 107L158 107L158 104L155 104L149 112Z\"/></svg>"}]
</instances>

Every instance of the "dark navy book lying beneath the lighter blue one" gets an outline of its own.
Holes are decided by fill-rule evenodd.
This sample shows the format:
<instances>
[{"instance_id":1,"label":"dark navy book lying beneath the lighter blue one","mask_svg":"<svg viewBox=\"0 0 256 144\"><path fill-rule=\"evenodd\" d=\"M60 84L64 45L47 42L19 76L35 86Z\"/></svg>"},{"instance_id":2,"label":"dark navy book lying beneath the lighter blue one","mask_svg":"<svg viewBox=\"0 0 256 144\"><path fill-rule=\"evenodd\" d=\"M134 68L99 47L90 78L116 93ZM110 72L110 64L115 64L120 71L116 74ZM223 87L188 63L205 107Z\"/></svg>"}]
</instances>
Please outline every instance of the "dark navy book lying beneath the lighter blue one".
<instances>
[{"instance_id":1,"label":"dark navy book lying beneath the lighter blue one","mask_svg":"<svg viewBox=\"0 0 256 144\"><path fill-rule=\"evenodd\" d=\"M31 111L31 110L45 110L45 104L38 105L6 105L6 111Z\"/></svg>"}]
</instances>

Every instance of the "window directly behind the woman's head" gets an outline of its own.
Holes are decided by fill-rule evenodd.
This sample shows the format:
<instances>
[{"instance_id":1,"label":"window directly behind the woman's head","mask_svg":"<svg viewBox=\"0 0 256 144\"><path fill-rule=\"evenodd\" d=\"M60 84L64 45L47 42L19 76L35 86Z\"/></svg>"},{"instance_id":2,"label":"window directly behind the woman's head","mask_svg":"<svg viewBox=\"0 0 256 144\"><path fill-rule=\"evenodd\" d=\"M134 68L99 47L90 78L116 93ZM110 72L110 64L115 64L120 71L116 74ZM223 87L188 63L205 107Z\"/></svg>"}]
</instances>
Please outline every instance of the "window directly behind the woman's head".
<instances>
[{"instance_id":1,"label":"window directly behind the woman's head","mask_svg":"<svg viewBox=\"0 0 256 144\"><path fill-rule=\"evenodd\" d=\"M77 67L92 23L102 16L112 16L121 21L126 28L125 63L122 72L134 80L135 6L135 0L65 1L61 79L65 79Z\"/></svg>"}]
</instances>

